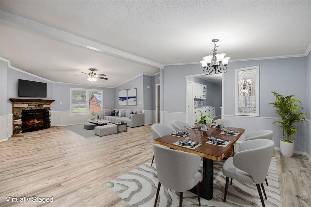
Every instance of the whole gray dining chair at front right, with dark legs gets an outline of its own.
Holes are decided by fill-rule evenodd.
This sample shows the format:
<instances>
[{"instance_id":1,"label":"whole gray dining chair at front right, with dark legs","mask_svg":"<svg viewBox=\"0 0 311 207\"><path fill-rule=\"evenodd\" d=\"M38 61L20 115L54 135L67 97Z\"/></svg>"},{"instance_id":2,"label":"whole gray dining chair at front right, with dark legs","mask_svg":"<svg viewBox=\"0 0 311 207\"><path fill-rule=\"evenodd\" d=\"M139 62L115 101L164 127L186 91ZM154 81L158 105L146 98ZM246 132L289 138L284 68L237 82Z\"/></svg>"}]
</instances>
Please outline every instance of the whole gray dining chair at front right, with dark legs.
<instances>
[{"instance_id":1,"label":"whole gray dining chair at front right, with dark legs","mask_svg":"<svg viewBox=\"0 0 311 207\"><path fill-rule=\"evenodd\" d=\"M270 166L273 148L274 142L267 139L248 140L240 144L240 151L234 154L233 158L228 158L222 168L222 173L226 176L224 202L226 201L229 178L234 178L242 182L255 183L262 206L265 207L260 185L265 199L267 199L263 182Z\"/></svg>"}]
</instances>

